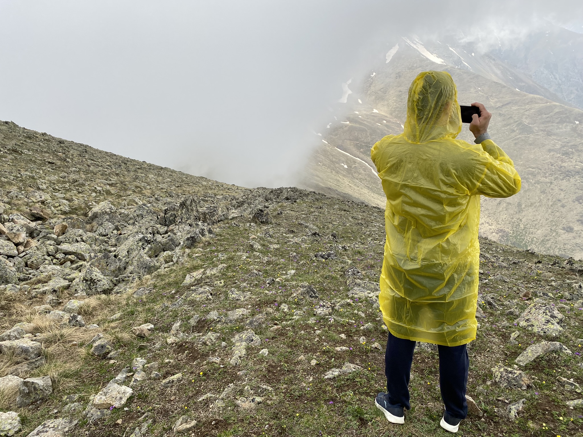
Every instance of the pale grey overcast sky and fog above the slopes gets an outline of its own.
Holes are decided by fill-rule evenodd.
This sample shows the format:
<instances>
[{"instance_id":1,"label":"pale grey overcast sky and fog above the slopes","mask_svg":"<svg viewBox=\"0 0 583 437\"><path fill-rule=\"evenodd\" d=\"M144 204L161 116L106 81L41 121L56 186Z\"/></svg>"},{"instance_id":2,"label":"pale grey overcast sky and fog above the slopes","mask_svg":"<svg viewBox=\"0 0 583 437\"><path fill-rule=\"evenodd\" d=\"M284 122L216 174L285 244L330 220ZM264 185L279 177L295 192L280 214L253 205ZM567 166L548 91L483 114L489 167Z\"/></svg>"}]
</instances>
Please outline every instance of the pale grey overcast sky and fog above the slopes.
<instances>
[{"instance_id":1,"label":"pale grey overcast sky and fog above the slopes","mask_svg":"<svg viewBox=\"0 0 583 437\"><path fill-rule=\"evenodd\" d=\"M244 186L293 185L387 41L512 40L573 1L0 0L0 119Z\"/></svg>"}]
</instances>

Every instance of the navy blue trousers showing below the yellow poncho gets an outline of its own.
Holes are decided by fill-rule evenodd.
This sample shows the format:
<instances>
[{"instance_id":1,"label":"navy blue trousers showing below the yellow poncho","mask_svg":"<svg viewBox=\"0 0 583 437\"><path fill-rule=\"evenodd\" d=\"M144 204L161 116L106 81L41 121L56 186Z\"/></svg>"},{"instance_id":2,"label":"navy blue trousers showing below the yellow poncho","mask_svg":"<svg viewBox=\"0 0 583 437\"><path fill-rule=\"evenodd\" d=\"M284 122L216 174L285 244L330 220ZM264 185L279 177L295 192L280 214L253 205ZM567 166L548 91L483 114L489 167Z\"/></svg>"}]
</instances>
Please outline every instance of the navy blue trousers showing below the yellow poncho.
<instances>
[{"instance_id":1,"label":"navy blue trousers showing below the yellow poncho","mask_svg":"<svg viewBox=\"0 0 583 437\"><path fill-rule=\"evenodd\" d=\"M409 410L409 378L413 362L415 341L399 339L389 332L385 352L387 394L391 407ZM466 386L468 385L469 358L466 345L437 346L439 350L439 382L441 399L449 417L465 419L468 415Z\"/></svg>"}]
</instances>

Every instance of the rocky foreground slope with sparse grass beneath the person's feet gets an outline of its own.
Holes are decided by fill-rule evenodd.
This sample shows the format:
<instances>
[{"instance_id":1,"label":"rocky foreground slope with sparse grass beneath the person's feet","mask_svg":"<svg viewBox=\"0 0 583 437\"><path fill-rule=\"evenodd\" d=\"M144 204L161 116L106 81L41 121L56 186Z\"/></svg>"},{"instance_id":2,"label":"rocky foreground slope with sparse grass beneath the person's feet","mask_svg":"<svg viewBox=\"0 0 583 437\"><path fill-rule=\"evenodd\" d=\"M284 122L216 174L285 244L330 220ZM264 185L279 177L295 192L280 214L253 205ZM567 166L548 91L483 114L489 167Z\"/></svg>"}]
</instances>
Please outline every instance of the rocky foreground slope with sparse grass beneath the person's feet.
<instances>
[{"instance_id":1,"label":"rocky foreground slope with sparse grass beneath the person's feet","mask_svg":"<svg viewBox=\"0 0 583 437\"><path fill-rule=\"evenodd\" d=\"M430 344L406 424L373 404L381 209L11 123L0 150L0 435L445 434ZM480 243L463 435L583 435L583 263Z\"/></svg>"}]
</instances>

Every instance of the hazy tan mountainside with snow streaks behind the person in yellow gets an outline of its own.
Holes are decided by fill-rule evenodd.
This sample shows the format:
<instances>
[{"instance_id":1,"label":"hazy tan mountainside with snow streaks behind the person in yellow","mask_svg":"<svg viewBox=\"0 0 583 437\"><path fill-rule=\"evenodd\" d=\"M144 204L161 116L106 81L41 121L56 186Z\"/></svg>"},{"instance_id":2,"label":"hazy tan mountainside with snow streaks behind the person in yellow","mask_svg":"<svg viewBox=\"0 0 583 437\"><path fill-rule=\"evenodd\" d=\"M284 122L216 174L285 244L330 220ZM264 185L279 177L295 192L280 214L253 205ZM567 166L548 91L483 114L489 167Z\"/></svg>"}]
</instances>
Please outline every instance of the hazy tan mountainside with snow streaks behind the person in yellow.
<instances>
[{"instance_id":1,"label":"hazy tan mountainside with snow streaks behind the person in yellow","mask_svg":"<svg viewBox=\"0 0 583 437\"><path fill-rule=\"evenodd\" d=\"M331 122L323 136L326 143L315 151L301 186L322 192L333 186L336 192L383 207L380 181L368 167L374 168L370 147L384 135L402 132L409 85L417 73L445 70L458 86L460 104L480 101L493 113L489 131L522 177L518 195L483 198L481 234L521 248L583 257L583 111L519 91L483 66L480 71L490 79L473 72L476 65L472 70L448 65L445 55L411 42L399 45L389 62L367 77L363 92L349 100L349 115ZM545 93L539 89L537 94ZM553 97L548 90L547 95ZM473 141L468 125L458 138Z\"/></svg>"}]
</instances>

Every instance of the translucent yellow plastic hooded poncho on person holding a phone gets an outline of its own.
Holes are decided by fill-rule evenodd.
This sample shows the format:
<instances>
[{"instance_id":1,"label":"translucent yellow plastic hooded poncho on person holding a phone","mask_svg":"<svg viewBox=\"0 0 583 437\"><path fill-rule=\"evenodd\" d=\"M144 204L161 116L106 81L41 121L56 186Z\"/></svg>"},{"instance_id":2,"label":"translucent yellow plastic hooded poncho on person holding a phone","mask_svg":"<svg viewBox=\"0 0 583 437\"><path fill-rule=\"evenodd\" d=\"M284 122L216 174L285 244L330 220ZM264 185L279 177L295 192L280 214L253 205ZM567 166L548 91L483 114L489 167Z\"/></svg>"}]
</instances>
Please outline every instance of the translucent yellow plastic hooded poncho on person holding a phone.
<instances>
[{"instance_id":1,"label":"translucent yellow plastic hooded poncho on person holding a phone","mask_svg":"<svg viewBox=\"0 0 583 437\"><path fill-rule=\"evenodd\" d=\"M459 346L476 338L480 195L520 191L507 154L492 140L456 140L461 128L452 77L423 72L409 88L404 132L371 150L387 195L379 301L402 339Z\"/></svg>"}]
</instances>

